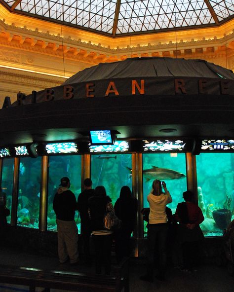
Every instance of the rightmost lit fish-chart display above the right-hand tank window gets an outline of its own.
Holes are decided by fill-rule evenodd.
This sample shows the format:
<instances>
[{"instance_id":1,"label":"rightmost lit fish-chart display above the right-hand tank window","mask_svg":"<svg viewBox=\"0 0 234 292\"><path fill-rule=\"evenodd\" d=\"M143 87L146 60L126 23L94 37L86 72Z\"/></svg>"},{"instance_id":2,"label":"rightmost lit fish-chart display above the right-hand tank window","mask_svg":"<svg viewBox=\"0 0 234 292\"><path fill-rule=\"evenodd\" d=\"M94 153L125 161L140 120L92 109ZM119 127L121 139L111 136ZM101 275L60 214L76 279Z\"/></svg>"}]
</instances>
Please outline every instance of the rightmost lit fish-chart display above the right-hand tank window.
<instances>
[{"instance_id":1,"label":"rightmost lit fish-chart display above the right-hand tank window","mask_svg":"<svg viewBox=\"0 0 234 292\"><path fill-rule=\"evenodd\" d=\"M201 142L201 151L234 151L234 140L205 139Z\"/></svg>"}]
</instances>

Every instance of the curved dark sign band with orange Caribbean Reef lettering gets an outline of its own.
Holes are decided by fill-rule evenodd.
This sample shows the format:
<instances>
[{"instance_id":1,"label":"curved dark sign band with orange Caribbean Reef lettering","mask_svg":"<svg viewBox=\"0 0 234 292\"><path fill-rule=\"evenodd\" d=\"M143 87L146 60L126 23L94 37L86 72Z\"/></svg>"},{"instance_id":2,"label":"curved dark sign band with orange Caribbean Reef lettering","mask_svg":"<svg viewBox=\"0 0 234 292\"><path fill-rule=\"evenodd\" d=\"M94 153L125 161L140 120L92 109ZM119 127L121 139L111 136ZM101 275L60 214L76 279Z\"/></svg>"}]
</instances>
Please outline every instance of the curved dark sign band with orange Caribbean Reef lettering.
<instances>
[{"instance_id":1,"label":"curved dark sign band with orange Caribbean Reef lettering","mask_svg":"<svg viewBox=\"0 0 234 292\"><path fill-rule=\"evenodd\" d=\"M11 105L6 97L2 108L30 105L56 100L127 96L177 96L177 95L234 95L234 80L225 78L197 77L146 77L113 78L72 83L42 91L33 91L26 96L19 93Z\"/></svg>"}]
</instances>

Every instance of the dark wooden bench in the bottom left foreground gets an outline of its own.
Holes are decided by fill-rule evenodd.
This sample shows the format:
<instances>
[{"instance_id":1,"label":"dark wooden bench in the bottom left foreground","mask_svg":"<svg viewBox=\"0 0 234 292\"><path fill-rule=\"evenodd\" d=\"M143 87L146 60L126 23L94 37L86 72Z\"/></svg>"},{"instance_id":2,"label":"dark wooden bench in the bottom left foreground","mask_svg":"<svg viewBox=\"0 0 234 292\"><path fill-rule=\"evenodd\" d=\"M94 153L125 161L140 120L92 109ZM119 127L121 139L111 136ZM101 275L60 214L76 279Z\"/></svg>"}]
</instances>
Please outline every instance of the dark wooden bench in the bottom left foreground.
<instances>
[{"instance_id":1,"label":"dark wooden bench in the bottom left foreground","mask_svg":"<svg viewBox=\"0 0 234 292\"><path fill-rule=\"evenodd\" d=\"M112 275L0 265L0 283L79 292L129 292L129 259L112 267Z\"/></svg>"}]
</instances>

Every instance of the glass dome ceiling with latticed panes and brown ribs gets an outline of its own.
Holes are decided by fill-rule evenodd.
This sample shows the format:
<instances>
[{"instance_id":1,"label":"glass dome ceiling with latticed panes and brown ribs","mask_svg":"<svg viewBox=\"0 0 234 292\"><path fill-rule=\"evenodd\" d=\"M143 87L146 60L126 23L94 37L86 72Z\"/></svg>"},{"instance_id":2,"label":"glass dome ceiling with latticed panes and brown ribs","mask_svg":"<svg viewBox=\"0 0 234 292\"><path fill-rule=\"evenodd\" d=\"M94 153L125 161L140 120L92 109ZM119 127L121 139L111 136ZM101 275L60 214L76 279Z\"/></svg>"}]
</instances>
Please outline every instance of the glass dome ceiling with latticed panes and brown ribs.
<instances>
[{"instance_id":1,"label":"glass dome ceiling with latticed panes and brown ribs","mask_svg":"<svg viewBox=\"0 0 234 292\"><path fill-rule=\"evenodd\" d=\"M234 0L0 0L13 13L120 36L217 26Z\"/></svg>"}]
</instances>

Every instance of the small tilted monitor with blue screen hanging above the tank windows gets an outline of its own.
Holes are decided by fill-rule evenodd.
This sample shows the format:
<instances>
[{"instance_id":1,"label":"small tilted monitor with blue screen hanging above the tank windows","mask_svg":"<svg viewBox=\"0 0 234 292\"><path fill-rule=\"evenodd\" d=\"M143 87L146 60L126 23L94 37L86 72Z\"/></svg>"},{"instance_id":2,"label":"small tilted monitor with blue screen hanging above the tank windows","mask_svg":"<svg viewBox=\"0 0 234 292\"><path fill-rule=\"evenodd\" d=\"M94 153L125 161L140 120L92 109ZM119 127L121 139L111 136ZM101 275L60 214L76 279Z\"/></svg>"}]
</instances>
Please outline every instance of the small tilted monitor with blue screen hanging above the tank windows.
<instances>
[{"instance_id":1,"label":"small tilted monitor with blue screen hanging above the tank windows","mask_svg":"<svg viewBox=\"0 0 234 292\"><path fill-rule=\"evenodd\" d=\"M90 131L91 145L114 145L114 136L111 130Z\"/></svg>"}]
</instances>

